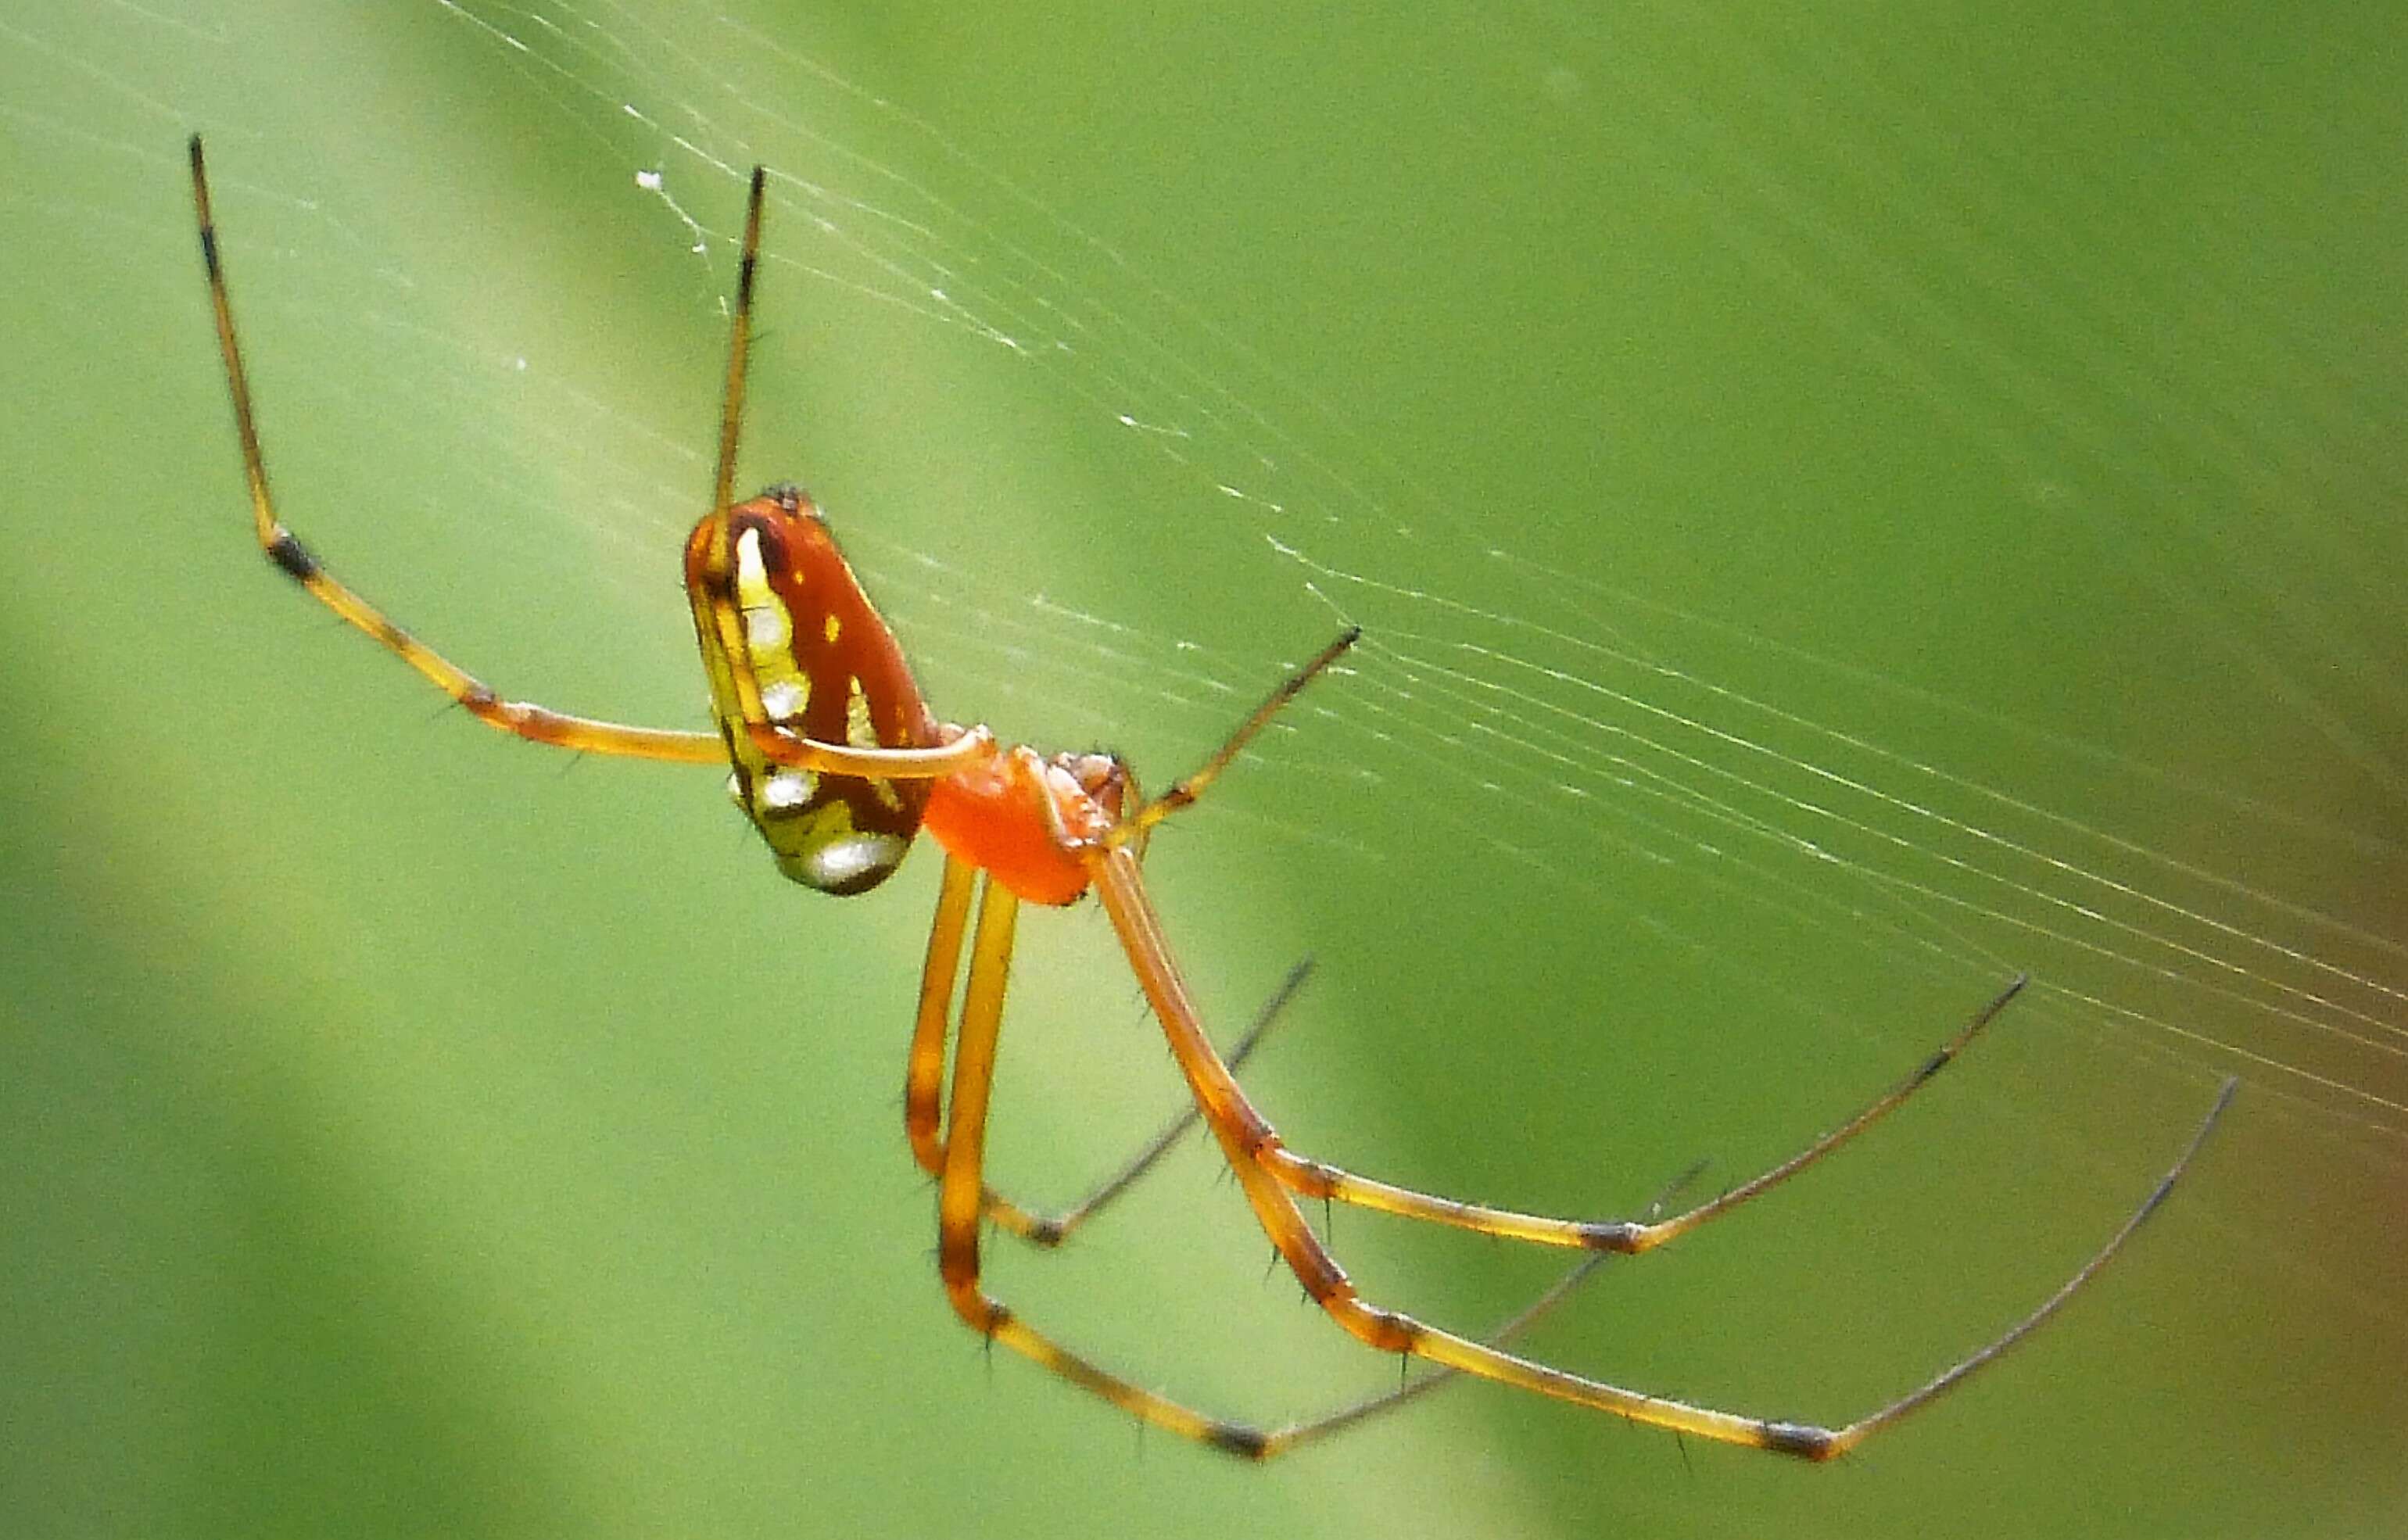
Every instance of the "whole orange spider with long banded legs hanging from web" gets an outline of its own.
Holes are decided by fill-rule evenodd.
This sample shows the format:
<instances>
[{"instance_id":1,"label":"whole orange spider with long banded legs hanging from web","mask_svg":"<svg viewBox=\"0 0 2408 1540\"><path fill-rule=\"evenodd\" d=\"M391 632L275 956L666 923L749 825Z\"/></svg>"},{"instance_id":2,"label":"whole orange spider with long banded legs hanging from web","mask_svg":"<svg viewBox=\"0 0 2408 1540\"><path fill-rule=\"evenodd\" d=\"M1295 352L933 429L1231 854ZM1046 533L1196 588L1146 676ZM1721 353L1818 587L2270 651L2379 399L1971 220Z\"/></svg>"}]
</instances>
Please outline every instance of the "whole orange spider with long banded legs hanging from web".
<instances>
[{"instance_id":1,"label":"whole orange spider with long banded legs hanging from web","mask_svg":"<svg viewBox=\"0 0 2408 1540\"><path fill-rule=\"evenodd\" d=\"M1153 799L1139 796L1127 765L1108 753L1043 758L1026 746L997 744L985 727L937 722L913 683L901 647L838 553L819 508L792 486L773 486L746 503L730 498L737 428L744 419L754 270L761 250L766 173L756 166L737 267L727 385L720 407L718 479L710 513L686 539L686 594L694 606L703 669L710 676L710 710L718 717L718 732L621 727L503 700L337 582L277 520L267 496L267 469L260 460L243 359L234 339L234 313L226 301L226 277L219 265L197 135L190 142L190 159L200 255L209 282L209 308L217 318L217 342L226 363L226 390L234 397L234 428L241 438L250 508L260 549L287 578L390 647L486 727L588 753L730 768L730 792L737 806L768 840L778 869L804 886L838 895L867 893L893 873L915 833L927 830L937 837L937 845L944 847L944 881L927 943L927 967L920 977L903 1124L913 1157L937 1179L939 1273L946 1297L973 1331L1086 1386L1144 1422L1238 1456L1269 1458L1361 1422L1365 1415L1428 1388L1438 1376L1411 1381L1389 1396L1315 1422L1283 1427L1230 1422L1194 1412L1069 1352L982 1290L982 1222L992 1220L1031 1242L1055 1244L1141 1172L1168 1133L1178 1131L1178 1126L1165 1131L1165 1141L1149 1148L1098 1198L1067 1215L1038 1215L985 1186L987 1090L1004 1020L1011 934L1023 900L1069 905L1096 893L1187 1080L1194 1100L1187 1119L1204 1119L1279 1258L1351 1335L1382 1352L1428 1360L1442 1374L1476 1374L1633 1422L1808 1461L1847 1453L1907 1412L1965 1384L2054 1316L2158 1210L2232 1100L2235 1083L2227 1080L2182 1155L2131 1218L2032 1314L1914 1391L1854 1422L1823 1427L1748 1417L1625 1391L1517 1357L1507 1352L1505 1343L1606 1254L1652 1251L1772 1191L1857 1138L1938 1076L2006 1008L2023 979L2008 984L1914 1073L1852 1119L1772 1169L1681 1213L1659 1215L1659 1201L1642 1220L1563 1220L1435 1198L1308 1160L1281 1143L1271 1124L1255 1112L1230 1073L1230 1061L1204 1035L1202 1013L1180 979L1161 917L1146 895L1139 857L1146 833L1156 823L1194 804L1247 741L1353 645L1353 628L1271 691L1194 775ZM980 895L975 926L970 922L973 893ZM956 1013L954 979L961 972L966 938L970 962ZM949 1032L954 1073L946 1092ZM1565 1246L1592 1256L1539 1304L1507 1321L1488 1340L1476 1340L1363 1299L1346 1270L1312 1234L1298 1198L1356 1203L1476 1234Z\"/></svg>"}]
</instances>

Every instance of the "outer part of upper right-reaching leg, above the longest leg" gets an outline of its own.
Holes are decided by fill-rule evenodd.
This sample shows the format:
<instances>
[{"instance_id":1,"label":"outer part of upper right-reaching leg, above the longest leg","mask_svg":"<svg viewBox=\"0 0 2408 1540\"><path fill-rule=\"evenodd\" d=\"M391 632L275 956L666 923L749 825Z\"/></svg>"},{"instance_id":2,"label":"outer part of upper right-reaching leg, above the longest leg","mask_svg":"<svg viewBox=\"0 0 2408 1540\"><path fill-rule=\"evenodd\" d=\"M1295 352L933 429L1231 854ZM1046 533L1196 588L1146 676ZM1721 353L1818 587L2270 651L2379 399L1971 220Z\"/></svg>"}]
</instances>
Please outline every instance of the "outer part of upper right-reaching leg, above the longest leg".
<instances>
[{"instance_id":1,"label":"outer part of upper right-reaching leg, above the longest leg","mask_svg":"<svg viewBox=\"0 0 2408 1540\"><path fill-rule=\"evenodd\" d=\"M1339 1203L1356 1203L1361 1208L1377 1208L1380 1213L1401 1215L1409 1220L1428 1220L1433 1225L1452 1225L1457 1230L1471 1230L1474 1234L1495 1234L1517 1242L1534 1242L1541 1246L1570 1246L1577 1251L1654 1251L1669 1239L1688 1234L1707 1220L1722 1218L1746 1203L1758 1198L1782 1181L1789 1181L1813 1162L1823 1160L1840 1145L1849 1143L1876 1121L1888 1116L1910 1095L1922 1090L1938 1076L1948 1064L1965 1052L1965 1047L1987 1027L2006 1003L2015 999L2025 979L2015 977L2001 989L1987 1006L1975 1011L1958 1032L1943 1042L1929 1059L1924 1059L1914 1073L1893 1085L1888 1092L1876 1097L1869 1107L1857 1112L1852 1119L1823 1133L1811 1145L1792 1155L1789 1160L1775 1165L1772 1169L1741 1181L1739 1186L1724 1191L1717 1198L1698 1203L1683 1213L1664 1220L1560 1220L1551 1215L1517 1213L1512 1208L1491 1208L1486 1203L1459 1203L1454 1198L1440 1198L1433 1194L1413 1191L1409 1186L1394 1186L1389 1181L1373 1181L1370 1177L1356 1177L1341 1167L1308 1160L1283 1143L1271 1138L1257 1150L1257 1160L1271 1177L1293 1194L1305 1198L1334 1198Z\"/></svg>"}]
</instances>

